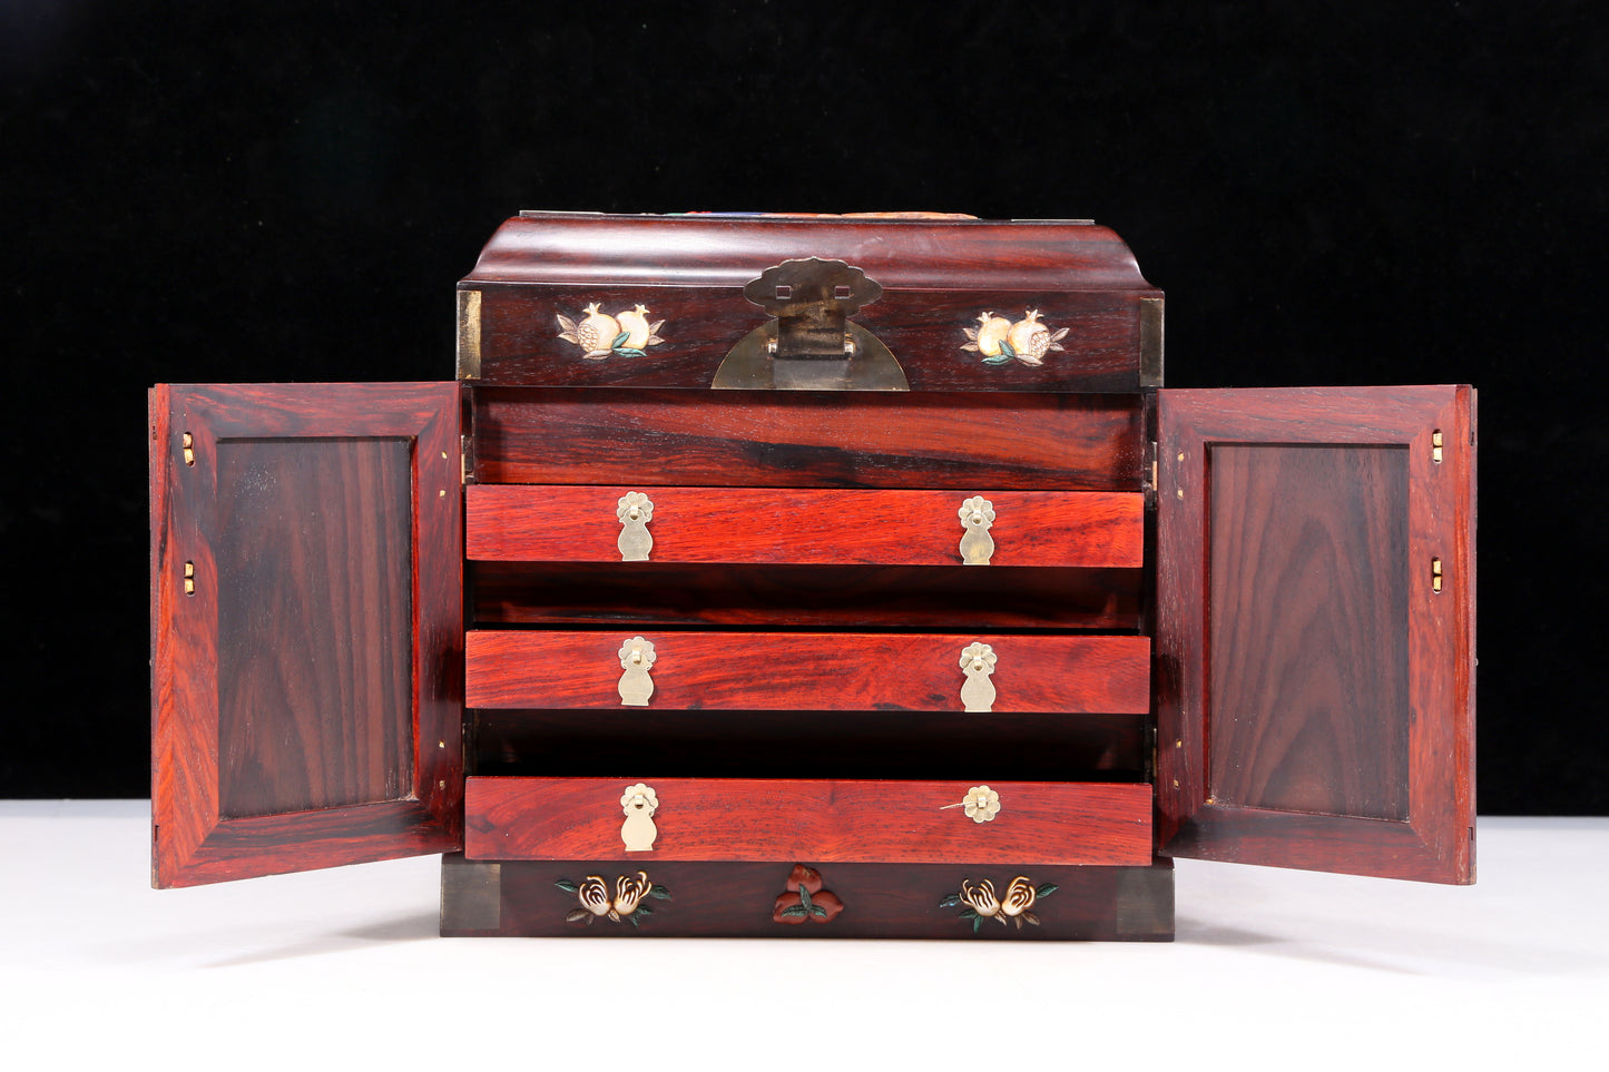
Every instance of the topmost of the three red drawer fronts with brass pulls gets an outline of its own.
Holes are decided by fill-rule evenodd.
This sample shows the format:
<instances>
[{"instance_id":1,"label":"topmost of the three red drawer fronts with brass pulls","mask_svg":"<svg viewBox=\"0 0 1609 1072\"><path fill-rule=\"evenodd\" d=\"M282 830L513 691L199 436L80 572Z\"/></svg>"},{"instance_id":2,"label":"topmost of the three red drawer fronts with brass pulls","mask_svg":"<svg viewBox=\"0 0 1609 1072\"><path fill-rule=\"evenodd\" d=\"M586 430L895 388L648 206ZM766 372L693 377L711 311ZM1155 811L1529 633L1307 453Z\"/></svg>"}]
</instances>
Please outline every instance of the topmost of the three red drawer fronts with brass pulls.
<instances>
[{"instance_id":1,"label":"topmost of the three red drawer fronts with brass pulls","mask_svg":"<svg viewBox=\"0 0 1609 1072\"><path fill-rule=\"evenodd\" d=\"M1123 491L838 491L470 484L465 555L619 562L619 501L648 496L650 562L961 565L961 504L993 504L994 567L1144 565L1144 501Z\"/></svg>"}]
</instances>

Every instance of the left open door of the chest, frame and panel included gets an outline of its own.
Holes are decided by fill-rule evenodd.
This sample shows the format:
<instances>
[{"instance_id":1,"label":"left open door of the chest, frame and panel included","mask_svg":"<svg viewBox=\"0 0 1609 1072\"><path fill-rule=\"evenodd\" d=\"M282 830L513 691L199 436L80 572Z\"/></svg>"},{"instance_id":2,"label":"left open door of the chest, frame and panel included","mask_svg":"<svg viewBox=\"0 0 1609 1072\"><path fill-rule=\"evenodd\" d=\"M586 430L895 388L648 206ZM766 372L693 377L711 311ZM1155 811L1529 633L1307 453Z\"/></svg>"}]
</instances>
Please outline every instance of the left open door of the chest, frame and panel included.
<instances>
[{"instance_id":1,"label":"left open door of the chest, frame and panel included","mask_svg":"<svg viewBox=\"0 0 1609 1072\"><path fill-rule=\"evenodd\" d=\"M153 885L459 848L459 386L150 407Z\"/></svg>"}]
</instances>

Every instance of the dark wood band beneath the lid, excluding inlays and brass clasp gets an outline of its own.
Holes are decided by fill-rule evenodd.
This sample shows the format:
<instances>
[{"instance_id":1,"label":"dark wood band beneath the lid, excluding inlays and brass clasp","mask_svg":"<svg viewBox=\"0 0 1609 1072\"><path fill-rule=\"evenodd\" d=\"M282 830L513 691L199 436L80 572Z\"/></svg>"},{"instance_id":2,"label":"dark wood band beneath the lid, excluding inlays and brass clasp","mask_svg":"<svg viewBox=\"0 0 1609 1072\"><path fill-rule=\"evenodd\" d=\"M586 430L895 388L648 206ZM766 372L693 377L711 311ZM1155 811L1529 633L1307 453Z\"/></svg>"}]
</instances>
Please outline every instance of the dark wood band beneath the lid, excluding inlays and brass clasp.
<instances>
[{"instance_id":1,"label":"dark wood band beneath the lid, excluding inlays and brass clasp","mask_svg":"<svg viewBox=\"0 0 1609 1072\"><path fill-rule=\"evenodd\" d=\"M772 262L774 264L774 262ZM759 266L750 277L759 275ZM747 282L747 280L745 280ZM502 386L710 388L721 361L767 314L730 288L481 287L479 383ZM1065 393L1139 390L1141 299L1152 290L1078 290L1073 280L1052 291L890 291L854 315L893 353L912 391ZM608 314L645 306L665 320L663 343L640 356L589 359L558 338L558 315L571 320L600 303ZM965 351L965 328L994 312L1022 320L1030 309L1052 332L1067 330L1062 349L1041 364L988 364ZM724 391L722 391L724 393Z\"/></svg>"}]
</instances>

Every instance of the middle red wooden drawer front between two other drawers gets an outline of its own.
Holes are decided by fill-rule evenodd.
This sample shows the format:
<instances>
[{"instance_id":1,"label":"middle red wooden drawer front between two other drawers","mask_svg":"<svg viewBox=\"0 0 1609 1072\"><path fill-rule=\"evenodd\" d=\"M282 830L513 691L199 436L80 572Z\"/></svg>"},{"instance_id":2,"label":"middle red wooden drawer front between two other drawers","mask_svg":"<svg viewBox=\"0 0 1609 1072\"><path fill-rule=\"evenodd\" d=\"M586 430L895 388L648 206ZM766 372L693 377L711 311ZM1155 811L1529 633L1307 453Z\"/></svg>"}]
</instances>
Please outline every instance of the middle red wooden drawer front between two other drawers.
<instances>
[{"instance_id":1,"label":"middle red wooden drawer front between two other drawers","mask_svg":"<svg viewBox=\"0 0 1609 1072\"><path fill-rule=\"evenodd\" d=\"M1149 637L944 633L471 631L465 703L619 710L628 707L621 650L639 636L653 645L653 691L632 707L962 711L961 654L980 642L994 655L988 710L1150 710Z\"/></svg>"}]
</instances>

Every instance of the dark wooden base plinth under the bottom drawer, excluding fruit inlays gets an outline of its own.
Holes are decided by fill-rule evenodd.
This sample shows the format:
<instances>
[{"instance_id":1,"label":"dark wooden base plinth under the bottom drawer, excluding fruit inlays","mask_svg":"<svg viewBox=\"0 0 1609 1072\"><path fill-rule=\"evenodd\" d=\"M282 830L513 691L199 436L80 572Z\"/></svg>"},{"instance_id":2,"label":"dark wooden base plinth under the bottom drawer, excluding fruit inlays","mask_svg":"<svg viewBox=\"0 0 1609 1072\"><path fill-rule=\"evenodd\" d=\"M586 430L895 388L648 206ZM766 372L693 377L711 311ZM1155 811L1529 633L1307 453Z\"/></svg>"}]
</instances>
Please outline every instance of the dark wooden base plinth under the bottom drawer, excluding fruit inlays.
<instances>
[{"instance_id":1,"label":"dark wooden base plinth under the bottom drawer, excluding fruit inlays","mask_svg":"<svg viewBox=\"0 0 1609 1072\"><path fill-rule=\"evenodd\" d=\"M1168 942L1173 938L1173 861L1136 868L1057 868L996 864L821 864L825 885L845 911L830 924L787 927L771 906L792 861L771 863L619 863L591 860L508 861L488 864L459 853L442 858L441 934L451 937L576 938L953 938L965 942ZM671 892L653 901L639 927L566 924L576 895L553 884L584 876L636 874ZM962 880L990 879L996 887L1017 874L1059 889L1036 905L1038 927L988 924L977 934L956 908L940 908Z\"/></svg>"}]
</instances>

